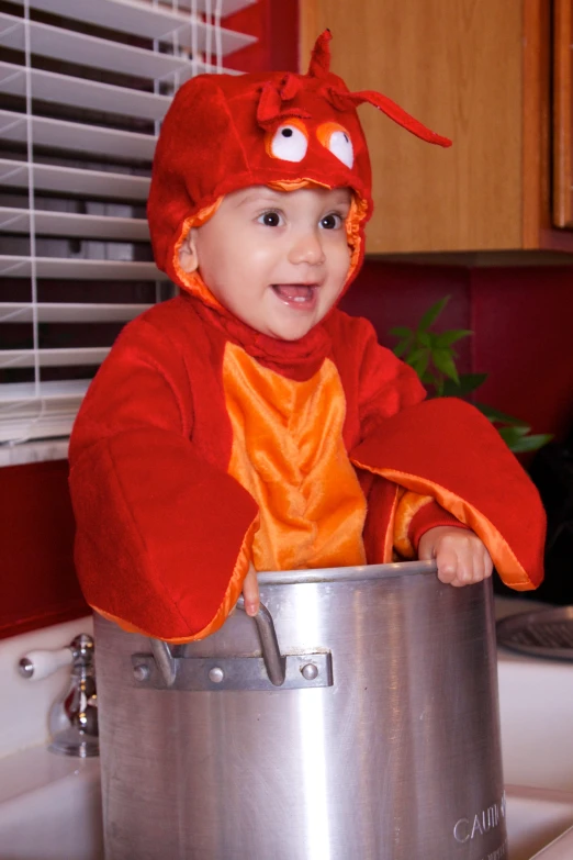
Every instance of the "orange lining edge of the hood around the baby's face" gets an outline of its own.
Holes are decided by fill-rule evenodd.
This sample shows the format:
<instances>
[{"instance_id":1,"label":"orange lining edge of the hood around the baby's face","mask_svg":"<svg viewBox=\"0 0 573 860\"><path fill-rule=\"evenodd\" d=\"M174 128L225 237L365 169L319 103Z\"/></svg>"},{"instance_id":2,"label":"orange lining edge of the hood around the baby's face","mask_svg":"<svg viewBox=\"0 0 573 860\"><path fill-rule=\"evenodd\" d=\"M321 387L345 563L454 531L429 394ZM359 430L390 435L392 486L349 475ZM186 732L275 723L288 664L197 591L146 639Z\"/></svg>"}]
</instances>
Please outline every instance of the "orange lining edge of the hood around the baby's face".
<instances>
[{"instance_id":1,"label":"orange lining edge of the hood around the baby's face","mask_svg":"<svg viewBox=\"0 0 573 860\"><path fill-rule=\"evenodd\" d=\"M329 186L323 185L322 182L316 182L311 179L289 179L283 181L269 182L269 188L273 188L277 191L297 191L300 188L329 188ZM357 267L360 265L363 242L362 224L364 223L368 213L368 201L361 198L353 189L351 190L352 200L350 203L350 211L345 222L348 247L350 248L350 265L348 268L348 275L342 293L345 292L347 284L352 280ZM189 215L189 217L183 221L179 237L173 246L173 269L179 278L179 286L187 290L187 292L190 292L192 295L201 299L210 308L215 308L216 310L222 310L223 305L205 284L199 272L199 269L192 272L188 272L181 268L181 264L179 263L179 252L181 249L181 245L189 234L189 231L193 227L200 227L202 224L205 224L211 217L213 217L222 202L223 197L220 197L217 200L215 200L214 203L210 203L209 205L203 206L203 209L200 209L199 212L195 212L193 215Z\"/></svg>"}]
</instances>

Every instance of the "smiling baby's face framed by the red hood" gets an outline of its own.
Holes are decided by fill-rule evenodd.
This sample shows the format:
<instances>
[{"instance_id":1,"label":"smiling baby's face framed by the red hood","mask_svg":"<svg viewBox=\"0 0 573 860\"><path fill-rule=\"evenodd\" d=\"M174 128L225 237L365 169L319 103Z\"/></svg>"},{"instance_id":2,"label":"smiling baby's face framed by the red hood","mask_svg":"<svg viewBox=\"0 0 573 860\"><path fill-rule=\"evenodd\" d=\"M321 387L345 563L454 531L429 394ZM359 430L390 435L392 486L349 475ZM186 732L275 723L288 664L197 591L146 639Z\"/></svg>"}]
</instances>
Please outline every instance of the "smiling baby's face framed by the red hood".
<instances>
[{"instance_id":1,"label":"smiling baby's face framed by the red hood","mask_svg":"<svg viewBox=\"0 0 573 860\"><path fill-rule=\"evenodd\" d=\"M347 188L234 191L210 221L190 231L181 266L199 268L213 295L252 328L297 340L345 286L350 203Z\"/></svg>"}]
</instances>

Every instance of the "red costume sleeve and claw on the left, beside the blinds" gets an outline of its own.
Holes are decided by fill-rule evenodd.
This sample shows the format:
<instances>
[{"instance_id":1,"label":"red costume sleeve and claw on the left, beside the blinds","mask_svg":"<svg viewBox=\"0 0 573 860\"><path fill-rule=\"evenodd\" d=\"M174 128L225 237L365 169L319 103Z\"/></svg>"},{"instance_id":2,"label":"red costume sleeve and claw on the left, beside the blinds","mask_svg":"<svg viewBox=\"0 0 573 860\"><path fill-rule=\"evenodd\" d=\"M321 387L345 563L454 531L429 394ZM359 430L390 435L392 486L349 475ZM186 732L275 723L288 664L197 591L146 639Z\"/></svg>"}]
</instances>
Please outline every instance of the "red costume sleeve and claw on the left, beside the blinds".
<instances>
[{"instance_id":1,"label":"red costume sleeve and claw on the left, beside the blinds","mask_svg":"<svg viewBox=\"0 0 573 860\"><path fill-rule=\"evenodd\" d=\"M224 622L257 526L254 500L226 473L232 438L214 353L188 302L154 308L117 338L70 440L76 566L88 603L171 641ZM207 427L201 446L205 403L217 433Z\"/></svg>"}]
</instances>

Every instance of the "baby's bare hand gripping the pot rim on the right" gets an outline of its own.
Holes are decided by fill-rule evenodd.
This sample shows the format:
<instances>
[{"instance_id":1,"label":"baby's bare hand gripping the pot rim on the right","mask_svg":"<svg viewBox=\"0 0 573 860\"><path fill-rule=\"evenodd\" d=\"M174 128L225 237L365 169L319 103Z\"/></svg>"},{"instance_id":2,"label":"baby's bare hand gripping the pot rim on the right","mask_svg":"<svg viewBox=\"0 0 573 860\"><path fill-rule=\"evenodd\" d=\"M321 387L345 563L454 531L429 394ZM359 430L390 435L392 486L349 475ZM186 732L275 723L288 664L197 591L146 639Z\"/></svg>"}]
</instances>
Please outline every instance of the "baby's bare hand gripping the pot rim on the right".
<instances>
[{"instance_id":1,"label":"baby's bare hand gripping the pot rim on the right","mask_svg":"<svg viewBox=\"0 0 573 860\"><path fill-rule=\"evenodd\" d=\"M471 585L492 576L491 556L469 528L436 526L419 539L418 558L435 558L438 579L451 585Z\"/></svg>"}]
</instances>

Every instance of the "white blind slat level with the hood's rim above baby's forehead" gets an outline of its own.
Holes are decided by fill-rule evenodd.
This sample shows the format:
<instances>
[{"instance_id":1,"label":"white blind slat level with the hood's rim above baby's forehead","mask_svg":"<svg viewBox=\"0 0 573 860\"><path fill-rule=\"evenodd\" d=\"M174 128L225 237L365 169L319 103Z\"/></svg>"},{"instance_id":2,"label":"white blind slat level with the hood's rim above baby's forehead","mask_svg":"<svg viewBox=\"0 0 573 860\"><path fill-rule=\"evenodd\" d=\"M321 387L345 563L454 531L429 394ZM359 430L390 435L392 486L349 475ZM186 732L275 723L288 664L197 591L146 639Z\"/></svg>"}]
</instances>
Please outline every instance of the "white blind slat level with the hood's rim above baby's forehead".
<instances>
[{"instance_id":1,"label":"white blind slat level with the hood's rim above baby's forehead","mask_svg":"<svg viewBox=\"0 0 573 860\"><path fill-rule=\"evenodd\" d=\"M88 194L94 198L144 202L149 192L146 176L104 172L79 167L32 165L34 188L65 194ZM25 161L0 158L0 182L12 188L27 188L29 166Z\"/></svg>"}]
</instances>

